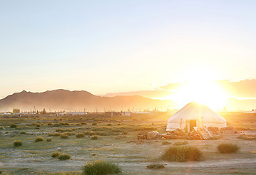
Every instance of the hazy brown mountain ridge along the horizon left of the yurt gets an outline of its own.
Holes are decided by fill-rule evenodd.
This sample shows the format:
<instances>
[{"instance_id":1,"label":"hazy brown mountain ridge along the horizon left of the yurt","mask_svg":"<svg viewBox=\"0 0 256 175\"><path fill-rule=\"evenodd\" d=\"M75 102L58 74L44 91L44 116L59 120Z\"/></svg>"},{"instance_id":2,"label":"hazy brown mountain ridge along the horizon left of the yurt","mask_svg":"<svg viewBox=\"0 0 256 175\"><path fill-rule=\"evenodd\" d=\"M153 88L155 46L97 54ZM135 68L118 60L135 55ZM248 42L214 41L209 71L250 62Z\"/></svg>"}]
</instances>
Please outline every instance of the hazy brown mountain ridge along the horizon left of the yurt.
<instances>
[{"instance_id":1,"label":"hazy brown mountain ridge along the horizon left of the yurt","mask_svg":"<svg viewBox=\"0 0 256 175\"><path fill-rule=\"evenodd\" d=\"M0 100L0 112L18 108L21 111L32 111L34 106L39 111L46 109L52 112L66 111L104 111L127 109L157 109L165 110L173 106L173 101L156 100L142 96L94 96L87 91L51 90L43 93L31 93L23 90Z\"/></svg>"}]
</instances>

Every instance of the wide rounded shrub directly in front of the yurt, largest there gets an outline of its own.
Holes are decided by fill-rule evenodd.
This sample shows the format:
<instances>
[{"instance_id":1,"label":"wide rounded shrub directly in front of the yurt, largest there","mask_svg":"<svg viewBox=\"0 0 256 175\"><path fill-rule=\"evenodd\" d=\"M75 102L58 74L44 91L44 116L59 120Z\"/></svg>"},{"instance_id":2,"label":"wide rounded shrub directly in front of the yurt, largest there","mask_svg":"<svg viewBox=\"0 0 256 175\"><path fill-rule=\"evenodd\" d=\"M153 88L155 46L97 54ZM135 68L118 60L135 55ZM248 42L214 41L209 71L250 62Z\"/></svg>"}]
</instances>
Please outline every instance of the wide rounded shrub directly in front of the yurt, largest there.
<instances>
[{"instance_id":1,"label":"wide rounded shrub directly in front of the yurt, largest there","mask_svg":"<svg viewBox=\"0 0 256 175\"><path fill-rule=\"evenodd\" d=\"M169 147L162 155L163 160L171 162L199 161L202 157L202 152L197 147L191 146Z\"/></svg>"}]
</instances>

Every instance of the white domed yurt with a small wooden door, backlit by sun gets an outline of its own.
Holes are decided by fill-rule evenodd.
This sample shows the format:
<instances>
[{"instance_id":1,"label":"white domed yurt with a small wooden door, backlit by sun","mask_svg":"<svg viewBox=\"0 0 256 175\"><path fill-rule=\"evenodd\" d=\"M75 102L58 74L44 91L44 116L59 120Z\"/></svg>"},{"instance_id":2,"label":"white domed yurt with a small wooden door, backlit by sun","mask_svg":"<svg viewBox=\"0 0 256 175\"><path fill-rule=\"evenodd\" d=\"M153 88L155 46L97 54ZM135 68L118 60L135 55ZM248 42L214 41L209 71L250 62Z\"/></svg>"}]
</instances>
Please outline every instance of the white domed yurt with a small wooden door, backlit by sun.
<instances>
[{"instance_id":1,"label":"white domed yurt with a small wooden door, backlit by sun","mask_svg":"<svg viewBox=\"0 0 256 175\"><path fill-rule=\"evenodd\" d=\"M226 127L226 120L206 105L191 102L169 118L166 131L179 128L181 131L189 132L192 131L193 127L224 128Z\"/></svg>"}]
</instances>

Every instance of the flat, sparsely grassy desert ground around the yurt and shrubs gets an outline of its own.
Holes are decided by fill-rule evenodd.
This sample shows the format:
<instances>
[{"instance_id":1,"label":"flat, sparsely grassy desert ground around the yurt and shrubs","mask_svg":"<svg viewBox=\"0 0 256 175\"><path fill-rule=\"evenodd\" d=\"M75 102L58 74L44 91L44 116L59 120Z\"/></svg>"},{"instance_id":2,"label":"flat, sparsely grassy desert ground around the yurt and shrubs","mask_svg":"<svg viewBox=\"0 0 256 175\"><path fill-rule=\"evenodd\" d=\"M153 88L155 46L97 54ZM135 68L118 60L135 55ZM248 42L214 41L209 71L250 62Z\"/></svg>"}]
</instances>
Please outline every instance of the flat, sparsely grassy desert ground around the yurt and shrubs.
<instances>
[{"instance_id":1,"label":"flat, sparsely grassy desert ground around the yurt and shrubs","mask_svg":"<svg viewBox=\"0 0 256 175\"><path fill-rule=\"evenodd\" d=\"M188 140L188 144L203 152L198 162L168 162L161 159L165 149L181 139L138 140L140 131L165 133L169 114L135 115L131 117L54 116L34 115L0 117L0 172L1 174L81 174L86 161L107 160L117 163L123 174L256 174L256 139L242 136L256 134L256 116L225 113L227 124L238 129L235 134L223 134L211 140ZM10 128L15 124L14 128ZM65 133L67 139L59 134ZM85 136L77 138L77 133ZM36 142L42 136L45 140ZM92 139L97 136L96 139ZM46 141L51 139L51 141ZM15 147L15 140L22 146ZM237 153L221 154L220 143L238 144ZM69 160L52 158L55 151L67 153ZM147 168L151 163L162 163L165 168Z\"/></svg>"}]
</instances>

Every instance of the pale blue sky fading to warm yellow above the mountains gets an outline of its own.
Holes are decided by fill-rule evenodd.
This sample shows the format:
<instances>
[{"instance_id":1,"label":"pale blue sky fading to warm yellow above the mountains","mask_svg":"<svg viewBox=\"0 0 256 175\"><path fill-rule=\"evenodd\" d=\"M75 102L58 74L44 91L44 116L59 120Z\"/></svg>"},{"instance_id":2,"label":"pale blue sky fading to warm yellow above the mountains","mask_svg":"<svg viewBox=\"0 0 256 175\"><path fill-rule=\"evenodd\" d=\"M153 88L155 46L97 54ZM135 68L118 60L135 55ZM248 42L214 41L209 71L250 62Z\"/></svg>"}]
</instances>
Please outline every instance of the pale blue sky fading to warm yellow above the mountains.
<instances>
[{"instance_id":1,"label":"pale blue sky fading to warm yellow above the mountains","mask_svg":"<svg viewBox=\"0 0 256 175\"><path fill-rule=\"evenodd\" d=\"M0 98L256 78L256 1L0 1Z\"/></svg>"}]
</instances>

